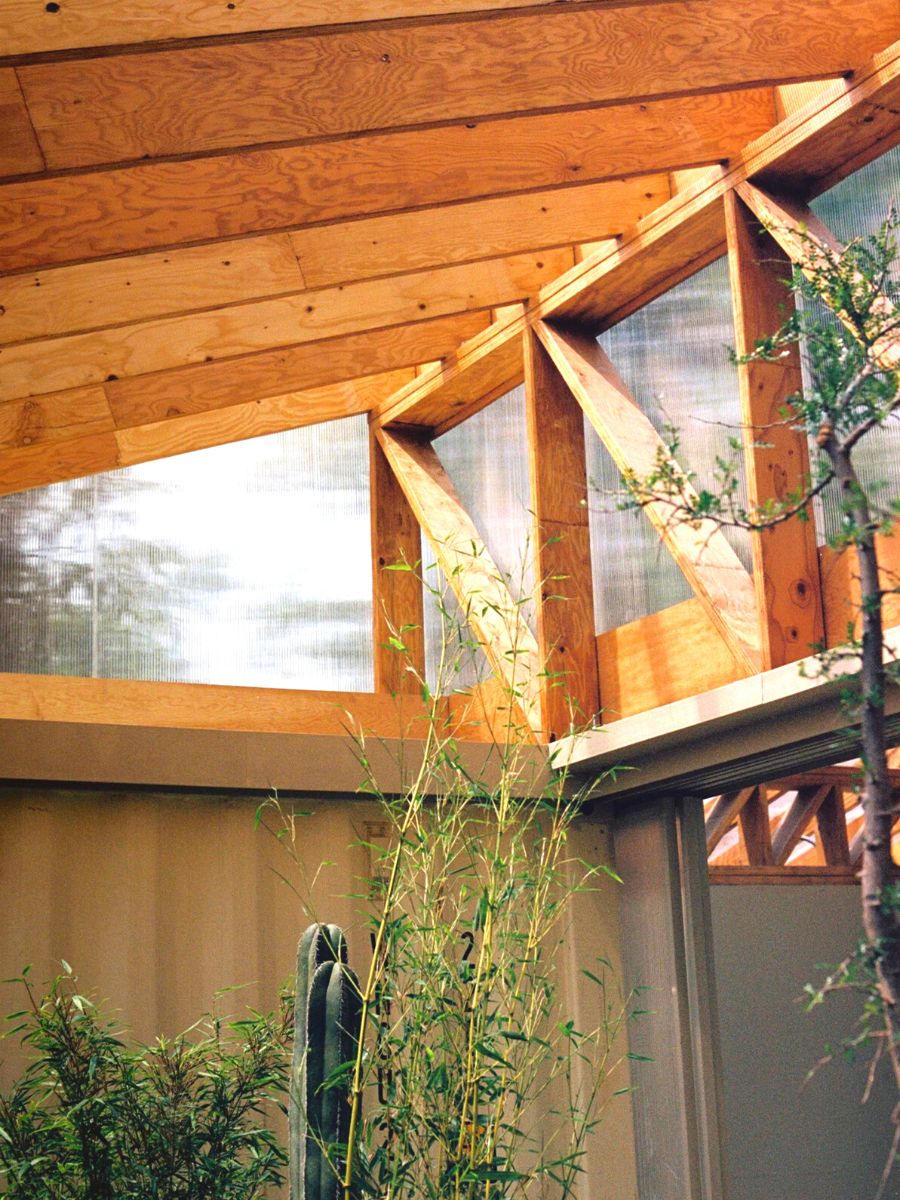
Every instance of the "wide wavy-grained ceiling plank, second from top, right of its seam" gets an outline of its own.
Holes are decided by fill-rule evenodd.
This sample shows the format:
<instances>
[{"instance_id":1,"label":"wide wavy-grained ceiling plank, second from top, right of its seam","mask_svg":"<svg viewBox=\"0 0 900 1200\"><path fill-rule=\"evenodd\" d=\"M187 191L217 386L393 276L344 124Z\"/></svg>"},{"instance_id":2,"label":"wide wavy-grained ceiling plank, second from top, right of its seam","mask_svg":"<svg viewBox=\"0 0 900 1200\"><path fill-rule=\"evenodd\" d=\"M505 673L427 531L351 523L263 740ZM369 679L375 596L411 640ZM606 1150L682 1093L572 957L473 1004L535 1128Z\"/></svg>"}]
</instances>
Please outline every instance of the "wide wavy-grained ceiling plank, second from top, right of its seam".
<instances>
[{"instance_id":1,"label":"wide wavy-grained ceiling plank, second from top, right of its seam","mask_svg":"<svg viewBox=\"0 0 900 1200\"><path fill-rule=\"evenodd\" d=\"M896 37L894 0L670 0L65 60L19 78L48 167L68 169L842 74Z\"/></svg>"}]
</instances>

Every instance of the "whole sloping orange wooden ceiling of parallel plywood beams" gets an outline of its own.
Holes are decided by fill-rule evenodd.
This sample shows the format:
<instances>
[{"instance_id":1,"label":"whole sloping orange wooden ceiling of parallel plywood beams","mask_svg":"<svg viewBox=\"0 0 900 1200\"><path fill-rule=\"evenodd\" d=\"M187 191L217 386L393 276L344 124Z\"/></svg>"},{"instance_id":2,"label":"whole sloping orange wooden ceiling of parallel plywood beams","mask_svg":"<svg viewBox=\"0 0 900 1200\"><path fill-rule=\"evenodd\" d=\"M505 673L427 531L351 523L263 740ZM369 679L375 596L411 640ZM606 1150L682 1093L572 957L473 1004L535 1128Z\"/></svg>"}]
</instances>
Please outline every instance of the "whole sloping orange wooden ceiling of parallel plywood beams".
<instances>
[{"instance_id":1,"label":"whole sloping orange wooden ceiling of parallel plywood beams","mask_svg":"<svg viewBox=\"0 0 900 1200\"><path fill-rule=\"evenodd\" d=\"M446 424L424 365L898 37L896 0L0 0L0 491ZM644 283L599 282L608 319Z\"/></svg>"}]
</instances>

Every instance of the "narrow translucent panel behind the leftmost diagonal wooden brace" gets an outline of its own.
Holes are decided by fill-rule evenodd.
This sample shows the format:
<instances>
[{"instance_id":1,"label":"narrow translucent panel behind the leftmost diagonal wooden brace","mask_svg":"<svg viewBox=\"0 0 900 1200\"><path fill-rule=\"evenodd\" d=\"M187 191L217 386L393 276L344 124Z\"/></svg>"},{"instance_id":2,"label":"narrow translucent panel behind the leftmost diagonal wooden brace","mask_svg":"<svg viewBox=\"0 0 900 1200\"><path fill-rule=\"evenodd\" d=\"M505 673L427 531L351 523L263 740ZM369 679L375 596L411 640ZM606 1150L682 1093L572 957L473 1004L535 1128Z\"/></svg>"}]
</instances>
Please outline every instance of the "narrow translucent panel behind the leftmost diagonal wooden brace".
<instances>
[{"instance_id":1,"label":"narrow translucent panel behind the leftmost diagonal wooden brace","mask_svg":"<svg viewBox=\"0 0 900 1200\"><path fill-rule=\"evenodd\" d=\"M454 482L463 508L487 546L500 575L516 599L529 598L534 572L530 562L530 482L524 389L512 391L444 433L434 448ZM444 654L451 686L468 686L485 678L484 654L460 644L454 630L460 610L433 566L434 556L422 539L422 562L430 589L442 593L440 604L450 614L442 620L440 604L426 590L425 635L428 679L437 683L443 630L452 635ZM523 605L530 620L530 605ZM445 638L444 638L445 640ZM446 672L445 672L446 673Z\"/></svg>"}]
</instances>

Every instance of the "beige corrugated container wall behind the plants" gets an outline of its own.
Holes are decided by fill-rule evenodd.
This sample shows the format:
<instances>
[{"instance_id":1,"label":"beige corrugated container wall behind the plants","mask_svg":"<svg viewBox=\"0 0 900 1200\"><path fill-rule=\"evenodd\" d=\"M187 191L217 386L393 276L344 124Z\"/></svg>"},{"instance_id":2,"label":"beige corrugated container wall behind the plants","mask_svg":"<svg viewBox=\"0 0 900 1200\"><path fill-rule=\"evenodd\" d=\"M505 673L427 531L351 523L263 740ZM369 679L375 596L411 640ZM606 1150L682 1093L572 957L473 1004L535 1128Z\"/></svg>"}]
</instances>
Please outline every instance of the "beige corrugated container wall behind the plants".
<instances>
[{"instance_id":1,"label":"beige corrugated container wall behind the plants","mask_svg":"<svg viewBox=\"0 0 900 1200\"><path fill-rule=\"evenodd\" d=\"M248 986L222 997L220 1012L274 1007L308 917L276 874L302 889L290 858L254 829L257 803L233 794L0 791L0 978L31 964L35 978L46 980L65 959L142 1040L186 1028L218 989L235 984ZM365 962L368 932L352 893L365 892L370 864L353 844L371 835L379 810L372 802L330 798L296 806L310 814L299 818L298 846L314 878L314 913L343 925L352 961ZM572 850L608 862L606 828L584 818ZM559 959L565 1007L581 1027L596 1016L595 989L581 967L595 967L600 955L617 965L616 892L608 882L576 898ZM0 1010L20 1007L20 998L5 986ZM8 1044L0 1057L2 1085L20 1058ZM614 1087L626 1082L623 1072ZM612 1100L589 1165L584 1200L635 1195L626 1097Z\"/></svg>"}]
</instances>

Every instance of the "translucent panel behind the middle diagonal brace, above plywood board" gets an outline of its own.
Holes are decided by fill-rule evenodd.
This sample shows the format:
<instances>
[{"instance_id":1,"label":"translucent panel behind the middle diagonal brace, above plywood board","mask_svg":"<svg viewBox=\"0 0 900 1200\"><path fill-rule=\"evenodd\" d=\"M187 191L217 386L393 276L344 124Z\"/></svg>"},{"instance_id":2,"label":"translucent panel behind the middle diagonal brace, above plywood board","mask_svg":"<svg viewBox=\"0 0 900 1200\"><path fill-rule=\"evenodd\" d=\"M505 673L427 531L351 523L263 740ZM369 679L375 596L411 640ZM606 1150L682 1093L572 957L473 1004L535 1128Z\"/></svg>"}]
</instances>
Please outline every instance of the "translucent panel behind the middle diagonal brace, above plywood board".
<instances>
[{"instance_id":1,"label":"translucent panel behind the middle diagonal brace, above plywood board","mask_svg":"<svg viewBox=\"0 0 900 1200\"><path fill-rule=\"evenodd\" d=\"M726 260L666 292L599 342L656 430L679 431L682 464L713 486L716 456L727 452L740 425L737 372L727 354L734 328ZM692 593L647 517L617 509L622 480L587 422L586 438L594 611L604 631ZM749 535L727 536L749 569Z\"/></svg>"}]
</instances>

